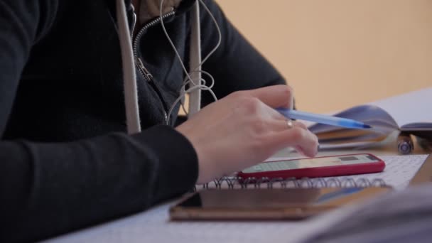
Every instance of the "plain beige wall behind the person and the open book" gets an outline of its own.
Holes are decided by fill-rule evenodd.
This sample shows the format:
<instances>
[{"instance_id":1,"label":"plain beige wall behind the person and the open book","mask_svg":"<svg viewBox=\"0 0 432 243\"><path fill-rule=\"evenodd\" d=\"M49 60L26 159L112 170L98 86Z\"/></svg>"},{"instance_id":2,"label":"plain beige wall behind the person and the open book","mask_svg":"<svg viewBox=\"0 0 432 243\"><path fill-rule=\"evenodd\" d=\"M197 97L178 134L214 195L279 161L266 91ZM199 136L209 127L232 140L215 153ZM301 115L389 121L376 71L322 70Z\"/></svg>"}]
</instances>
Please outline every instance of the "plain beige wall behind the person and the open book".
<instances>
[{"instance_id":1,"label":"plain beige wall behind the person and the open book","mask_svg":"<svg viewBox=\"0 0 432 243\"><path fill-rule=\"evenodd\" d=\"M432 86L432 0L217 0L296 91L329 112Z\"/></svg>"}]
</instances>

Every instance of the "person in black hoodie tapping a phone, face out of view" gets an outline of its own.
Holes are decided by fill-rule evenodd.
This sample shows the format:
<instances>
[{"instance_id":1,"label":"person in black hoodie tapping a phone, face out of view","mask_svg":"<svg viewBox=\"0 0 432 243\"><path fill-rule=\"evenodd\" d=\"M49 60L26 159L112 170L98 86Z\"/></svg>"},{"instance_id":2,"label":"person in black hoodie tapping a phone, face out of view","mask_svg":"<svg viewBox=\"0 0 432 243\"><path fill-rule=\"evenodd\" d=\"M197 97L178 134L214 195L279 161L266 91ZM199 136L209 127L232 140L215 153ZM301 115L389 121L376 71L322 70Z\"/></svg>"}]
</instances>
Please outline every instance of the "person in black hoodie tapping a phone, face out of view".
<instances>
[{"instance_id":1,"label":"person in black hoodie tapping a phone, face out of view","mask_svg":"<svg viewBox=\"0 0 432 243\"><path fill-rule=\"evenodd\" d=\"M316 137L273 109L292 105L291 88L210 0L222 41L202 69L219 101L203 92L204 108L174 125L184 75L161 22L189 63L194 2L161 11L158 0L0 0L1 242L144 210L286 146L315 155ZM120 44L122 16L134 33L135 90L124 89L134 66L121 58L131 51ZM205 56L218 34L209 13L199 21ZM126 134L131 107L141 131Z\"/></svg>"}]
</instances>

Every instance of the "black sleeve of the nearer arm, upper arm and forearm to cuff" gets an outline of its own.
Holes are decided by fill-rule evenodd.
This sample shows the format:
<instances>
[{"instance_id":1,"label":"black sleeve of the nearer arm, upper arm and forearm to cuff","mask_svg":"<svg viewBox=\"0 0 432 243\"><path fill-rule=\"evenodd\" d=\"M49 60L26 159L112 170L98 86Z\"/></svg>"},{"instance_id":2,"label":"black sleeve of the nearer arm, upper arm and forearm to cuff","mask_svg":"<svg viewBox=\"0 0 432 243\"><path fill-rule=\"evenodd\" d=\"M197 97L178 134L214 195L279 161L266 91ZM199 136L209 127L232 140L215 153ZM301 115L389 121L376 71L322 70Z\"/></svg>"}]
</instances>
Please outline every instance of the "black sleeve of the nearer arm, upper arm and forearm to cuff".
<instances>
[{"instance_id":1,"label":"black sleeve of the nearer arm, upper arm and forearm to cuff","mask_svg":"<svg viewBox=\"0 0 432 243\"><path fill-rule=\"evenodd\" d=\"M31 46L56 7L0 0L0 136ZM70 143L0 141L0 242L35 241L144 210L197 178L193 146L169 126Z\"/></svg>"}]
</instances>

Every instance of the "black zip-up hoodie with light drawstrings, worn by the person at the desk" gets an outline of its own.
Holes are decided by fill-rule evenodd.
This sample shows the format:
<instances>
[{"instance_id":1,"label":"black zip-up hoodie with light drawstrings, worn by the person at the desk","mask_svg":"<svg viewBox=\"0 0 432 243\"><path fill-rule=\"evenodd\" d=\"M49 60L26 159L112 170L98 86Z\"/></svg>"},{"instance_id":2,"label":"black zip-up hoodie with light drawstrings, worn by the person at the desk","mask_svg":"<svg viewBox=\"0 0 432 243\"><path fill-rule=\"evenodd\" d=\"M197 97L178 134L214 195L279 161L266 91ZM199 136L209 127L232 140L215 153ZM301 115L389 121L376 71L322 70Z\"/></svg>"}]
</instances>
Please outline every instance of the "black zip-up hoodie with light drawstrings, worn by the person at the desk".
<instances>
[{"instance_id":1,"label":"black zip-up hoodie with light drawstrings, worn by the person at the desk","mask_svg":"<svg viewBox=\"0 0 432 243\"><path fill-rule=\"evenodd\" d=\"M222 45L202 68L215 77L217 97L283 84L217 4L205 3L222 31ZM192 4L184 0L164 19L186 64ZM157 21L136 40L136 58L153 75L150 83L136 72L143 131L125 133L114 6L108 0L0 0L0 242L95 225L195 184L193 146L164 125L183 73ZM130 1L126 6L131 19ZM205 11L200 23L205 56L217 32ZM203 92L202 106L210 102Z\"/></svg>"}]
</instances>

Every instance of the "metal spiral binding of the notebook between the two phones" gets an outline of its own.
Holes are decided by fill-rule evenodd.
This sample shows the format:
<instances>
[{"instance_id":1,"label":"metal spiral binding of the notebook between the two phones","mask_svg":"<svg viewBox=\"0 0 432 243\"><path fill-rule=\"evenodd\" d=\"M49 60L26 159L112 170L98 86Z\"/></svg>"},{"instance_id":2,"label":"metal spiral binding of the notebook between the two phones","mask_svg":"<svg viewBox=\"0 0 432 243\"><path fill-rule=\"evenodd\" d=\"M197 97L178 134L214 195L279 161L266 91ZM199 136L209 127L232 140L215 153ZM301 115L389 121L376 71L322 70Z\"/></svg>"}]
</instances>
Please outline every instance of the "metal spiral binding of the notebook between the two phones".
<instances>
[{"instance_id":1,"label":"metal spiral binding of the notebook between the two phones","mask_svg":"<svg viewBox=\"0 0 432 243\"><path fill-rule=\"evenodd\" d=\"M195 185L194 191L200 189L248 189L248 188L369 188L387 187L382 179L367 178L247 178L222 177L210 183Z\"/></svg>"}]
</instances>

